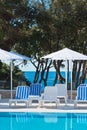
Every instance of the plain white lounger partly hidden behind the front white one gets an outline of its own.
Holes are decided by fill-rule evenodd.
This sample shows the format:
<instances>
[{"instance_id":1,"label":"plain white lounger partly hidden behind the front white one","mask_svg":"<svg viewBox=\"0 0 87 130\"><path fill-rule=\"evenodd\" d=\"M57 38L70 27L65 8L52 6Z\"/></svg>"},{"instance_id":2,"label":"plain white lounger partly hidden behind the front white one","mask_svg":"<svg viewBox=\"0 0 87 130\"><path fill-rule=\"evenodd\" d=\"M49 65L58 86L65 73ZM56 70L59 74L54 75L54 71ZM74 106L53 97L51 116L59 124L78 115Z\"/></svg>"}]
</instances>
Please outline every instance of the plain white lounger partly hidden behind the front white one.
<instances>
[{"instance_id":1,"label":"plain white lounger partly hidden behind the front white one","mask_svg":"<svg viewBox=\"0 0 87 130\"><path fill-rule=\"evenodd\" d=\"M65 87L65 84L55 84L57 87L57 98L64 98L65 99L65 104L67 104L67 89Z\"/></svg>"}]
</instances>

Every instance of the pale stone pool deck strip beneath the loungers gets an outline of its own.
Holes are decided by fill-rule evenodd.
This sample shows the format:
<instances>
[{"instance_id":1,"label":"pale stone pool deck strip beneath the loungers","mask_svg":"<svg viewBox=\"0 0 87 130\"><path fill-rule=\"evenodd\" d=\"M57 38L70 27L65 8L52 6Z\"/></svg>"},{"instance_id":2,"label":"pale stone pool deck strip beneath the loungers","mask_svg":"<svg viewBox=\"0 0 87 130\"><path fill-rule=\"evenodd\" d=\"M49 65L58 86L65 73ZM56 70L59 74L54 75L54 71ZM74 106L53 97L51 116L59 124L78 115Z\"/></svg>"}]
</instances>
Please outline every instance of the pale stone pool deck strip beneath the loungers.
<instances>
[{"instance_id":1,"label":"pale stone pool deck strip beneath the loungers","mask_svg":"<svg viewBox=\"0 0 87 130\"><path fill-rule=\"evenodd\" d=\"M54 103L46 103L43 107L38 107L37 103L33 103L31 107L27 108L25 104L17 104L16 107L9 107L8 100L0 100L0 112L52 112L52 113L87 113L87 104L78 104L74 108L74 103L69 102L60 103L56 108Z\"/></svg>"}]
</instances>

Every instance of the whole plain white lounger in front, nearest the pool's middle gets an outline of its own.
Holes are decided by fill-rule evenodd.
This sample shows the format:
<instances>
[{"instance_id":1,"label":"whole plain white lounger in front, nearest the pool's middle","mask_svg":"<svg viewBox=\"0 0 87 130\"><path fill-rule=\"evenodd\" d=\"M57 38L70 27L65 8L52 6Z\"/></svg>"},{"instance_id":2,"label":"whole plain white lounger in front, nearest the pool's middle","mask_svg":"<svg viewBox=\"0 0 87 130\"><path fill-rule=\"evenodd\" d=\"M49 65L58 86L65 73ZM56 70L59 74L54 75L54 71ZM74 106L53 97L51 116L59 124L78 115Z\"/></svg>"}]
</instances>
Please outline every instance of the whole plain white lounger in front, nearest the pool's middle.
<instances>
[{"instance_id":1,"label":"whole plain white lounger in front, nearest the pool's middle","mask_svg":"<svg viewBox=\"0 0 87 130\"><path fill-rule=\"evenodd\" d=\"M46 86L44 89L44 94L42 100L40 100L40 106L43 106L45 102L56 103L56 107L59 103L59 100L57 99L57 87L54 86Z\"/></svg>"}]
</instances>

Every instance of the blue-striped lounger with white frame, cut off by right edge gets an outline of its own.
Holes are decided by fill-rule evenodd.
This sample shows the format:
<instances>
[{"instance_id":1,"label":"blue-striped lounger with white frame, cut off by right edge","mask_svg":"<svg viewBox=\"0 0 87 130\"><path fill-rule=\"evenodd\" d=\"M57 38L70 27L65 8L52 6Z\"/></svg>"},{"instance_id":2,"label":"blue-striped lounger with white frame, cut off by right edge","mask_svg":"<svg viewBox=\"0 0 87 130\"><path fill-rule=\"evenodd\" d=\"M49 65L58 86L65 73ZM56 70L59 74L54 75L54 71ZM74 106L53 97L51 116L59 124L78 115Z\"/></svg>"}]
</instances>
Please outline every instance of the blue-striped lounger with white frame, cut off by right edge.
<instances>
[{"instance_id":1,"label":"blue-striped lounger with white frame, cut off by right edge","mask_svg":"<svg viewBox=\"0 0 87 130\"><path fill-rule=\"evenodd\" d=\"M80 84L78 86L74 107L77 107L77 103L87 103L87 84Z\"/></svg>"}]
</instances>

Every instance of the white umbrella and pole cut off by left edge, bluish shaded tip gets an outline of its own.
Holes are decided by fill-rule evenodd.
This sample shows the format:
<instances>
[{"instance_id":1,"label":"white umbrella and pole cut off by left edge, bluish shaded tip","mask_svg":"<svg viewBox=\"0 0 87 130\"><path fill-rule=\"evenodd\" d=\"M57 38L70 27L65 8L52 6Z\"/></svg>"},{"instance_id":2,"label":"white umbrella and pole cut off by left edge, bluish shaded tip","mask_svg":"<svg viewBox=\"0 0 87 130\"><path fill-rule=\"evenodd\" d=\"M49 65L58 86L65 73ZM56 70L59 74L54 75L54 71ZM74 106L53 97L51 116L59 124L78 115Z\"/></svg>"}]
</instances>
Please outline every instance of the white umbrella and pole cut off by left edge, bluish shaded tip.
<instances>
[{"instance_id":1,"label":"white umbrella and pole cut off by left edge, bluish shaded tip","mask_svg":"<svg viewBox=\"0 0 87 130\"><path fill-rule=\"evenodd\" d=\"M11 63L11 98L12 98L12 61L13 60L30 60L30 58L25 57L23 55L17 55L17 54L13 54L11 52L5 51L3 49L0 49L0 60L9 60Z\"/></svg>"}]
</instances>

